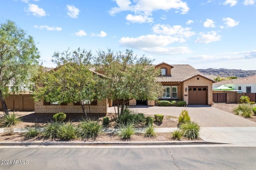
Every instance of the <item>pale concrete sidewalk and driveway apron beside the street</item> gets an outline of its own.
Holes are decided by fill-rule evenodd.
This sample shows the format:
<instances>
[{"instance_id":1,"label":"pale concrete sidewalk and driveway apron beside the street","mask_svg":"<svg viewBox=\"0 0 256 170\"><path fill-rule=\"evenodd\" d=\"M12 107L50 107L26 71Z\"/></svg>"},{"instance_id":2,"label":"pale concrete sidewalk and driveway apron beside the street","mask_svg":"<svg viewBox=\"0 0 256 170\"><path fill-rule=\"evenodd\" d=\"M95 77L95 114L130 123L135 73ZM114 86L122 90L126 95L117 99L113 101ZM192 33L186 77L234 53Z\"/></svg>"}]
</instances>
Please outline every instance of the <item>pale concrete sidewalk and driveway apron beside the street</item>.
<instances>
[{"instance_id":1,"label":"pale concrete sidewalk and driveway apron beside the street","mask_svg":"<svg viewBox=\"0 0 256 170\"><path fill-rule=\"evenodd\" d=\"M177 128L156 128L156 133L170 133ZM117 129L103 129L106 133L118 132ZM0 128L0 133L4 132L4 128ZM26 128L14 128L15 133L26 132ZM143 133L144 129L136 129L136 132ZM256 127L201 127L200 128L201 144L206 143L223 143L231 144L237 147L256 147ZM188 141L190 144L198 144L198 141ZM2 143L2 142L0 142ZM123 143L123 142L122 142ZM153 145L151 142L151 145ZM159 142L155 142L155 145ZM163 141L168 144L168 141ZM179 143L179 142L178 142ZM182 145L183 142L180 142ZM68 143L67 143L68 144ZM123 143L124 145L127 145ZM184 145L188 145L183 143ZM77 145L77 144L76 144ZM92 144L93 145L93 144ZM170 142L169 145L172 144Z\"/></svg>"}]
</instances>

